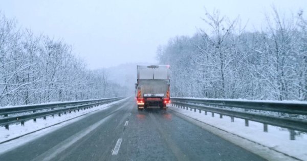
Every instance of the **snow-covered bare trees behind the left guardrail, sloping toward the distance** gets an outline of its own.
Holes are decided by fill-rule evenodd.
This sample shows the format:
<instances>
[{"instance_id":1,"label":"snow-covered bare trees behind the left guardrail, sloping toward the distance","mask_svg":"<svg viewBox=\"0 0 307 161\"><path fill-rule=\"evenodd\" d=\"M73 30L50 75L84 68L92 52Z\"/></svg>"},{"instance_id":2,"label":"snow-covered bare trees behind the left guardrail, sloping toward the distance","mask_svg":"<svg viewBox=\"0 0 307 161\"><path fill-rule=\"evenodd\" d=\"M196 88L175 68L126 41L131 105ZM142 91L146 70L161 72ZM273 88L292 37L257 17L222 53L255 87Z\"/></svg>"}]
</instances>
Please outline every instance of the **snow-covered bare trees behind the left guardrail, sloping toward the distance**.
<instances>
[{"instance_id":1,"label":"snow-covered bare trees behind the left guardrail, sloping toward the distance","mask_svg":"<svg viewBox=\"0 0 307 161\"><path fill-rule=\"evenodd\" d=\"M61 39L34 35L0 12L0 106L126 95L108 75L87 69Z\"/></svg>"}]
</instances>

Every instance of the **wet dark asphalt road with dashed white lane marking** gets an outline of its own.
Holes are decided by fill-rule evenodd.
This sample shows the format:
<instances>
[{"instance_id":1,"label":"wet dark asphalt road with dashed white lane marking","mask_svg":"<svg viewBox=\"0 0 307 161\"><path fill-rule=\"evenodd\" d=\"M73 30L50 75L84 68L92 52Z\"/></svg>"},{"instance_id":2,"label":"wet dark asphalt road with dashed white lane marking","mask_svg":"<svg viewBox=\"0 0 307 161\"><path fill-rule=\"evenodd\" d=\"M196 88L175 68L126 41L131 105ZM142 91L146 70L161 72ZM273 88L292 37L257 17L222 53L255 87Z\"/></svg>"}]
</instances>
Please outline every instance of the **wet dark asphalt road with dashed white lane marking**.
<instances>
[{"instance_id":1,"label":"wet dark asphalt road with dashed white lane marking","mask_svg":"<svg viewBox=\"0 0 307 161\"><path fill-rule=\"evenodd\" d=\"M264 159L171 110L138 111L131 98L2 154L0 160Z\"/></svg>"}]
</instances>

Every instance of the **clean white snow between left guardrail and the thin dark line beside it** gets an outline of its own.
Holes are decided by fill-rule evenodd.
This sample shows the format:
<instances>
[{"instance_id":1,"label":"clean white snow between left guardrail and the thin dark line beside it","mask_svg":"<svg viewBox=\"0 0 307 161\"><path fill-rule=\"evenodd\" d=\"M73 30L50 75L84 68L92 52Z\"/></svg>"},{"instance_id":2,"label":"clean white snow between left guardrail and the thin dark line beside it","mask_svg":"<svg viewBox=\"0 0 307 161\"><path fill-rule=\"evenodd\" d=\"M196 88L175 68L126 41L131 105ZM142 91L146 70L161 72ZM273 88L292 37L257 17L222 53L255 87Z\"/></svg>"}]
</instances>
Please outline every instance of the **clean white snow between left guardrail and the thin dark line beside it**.
<instances>
[{"instance_id":1,"label":"clean white snow between left guardrail and the thin dark line beside it","mask_svg":"<svg viewBox=\"0 0 307 161\"><path fill-rule=\"evenodd\" d=\"M10 125L9 130L6 130L4 127L0 127L0 143L6 140L33 132L33 131L36 131L36 130L39 130L39 129L43 129L43 128L55 125L57 123L64 122L65 120L68 120L68 119L72 119L75 117L81 118L79 116L84 115L86 113L93 112L93 111L106 109L110 105L116 104L122 100L118 100L110 104L105 104L105 105L101 105L101 106L90 108L90 109L80 110L79 112L76 111L75 113L72 111L72 113L62 114L61 116L58 116L55 114L54 118L52 116L48 116L46 120L44 120L43 118L37 118L36 123L34 123L33 119L31 119L25 122L25 126L21 126L20 123L15 124L15 125L14 124ZM76 120L79 120L78 118L73 119L73 121L75 122Z\"/></svg>"}]
</instances>

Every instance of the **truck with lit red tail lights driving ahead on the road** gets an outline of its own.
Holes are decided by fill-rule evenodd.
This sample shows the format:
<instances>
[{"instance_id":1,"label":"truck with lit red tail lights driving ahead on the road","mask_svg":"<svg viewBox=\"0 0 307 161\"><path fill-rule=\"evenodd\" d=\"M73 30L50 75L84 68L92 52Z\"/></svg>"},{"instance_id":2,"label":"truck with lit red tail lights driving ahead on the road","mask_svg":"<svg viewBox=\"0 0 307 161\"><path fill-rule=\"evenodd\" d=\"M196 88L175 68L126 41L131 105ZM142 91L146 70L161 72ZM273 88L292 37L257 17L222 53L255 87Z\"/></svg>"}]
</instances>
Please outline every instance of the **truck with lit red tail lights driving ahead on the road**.
<instances>
[{"instance_id":1,"label":"truck with lit red tail lights driving ahead on the road","mask_svg":"<svg viewBox=\"0 0 307 161\"><path fill-rule=\"evenodd\" d=\"M169 65L137 65L136 102L138 110L167 109L170 104Z\"/></svg>"}]
</instances>

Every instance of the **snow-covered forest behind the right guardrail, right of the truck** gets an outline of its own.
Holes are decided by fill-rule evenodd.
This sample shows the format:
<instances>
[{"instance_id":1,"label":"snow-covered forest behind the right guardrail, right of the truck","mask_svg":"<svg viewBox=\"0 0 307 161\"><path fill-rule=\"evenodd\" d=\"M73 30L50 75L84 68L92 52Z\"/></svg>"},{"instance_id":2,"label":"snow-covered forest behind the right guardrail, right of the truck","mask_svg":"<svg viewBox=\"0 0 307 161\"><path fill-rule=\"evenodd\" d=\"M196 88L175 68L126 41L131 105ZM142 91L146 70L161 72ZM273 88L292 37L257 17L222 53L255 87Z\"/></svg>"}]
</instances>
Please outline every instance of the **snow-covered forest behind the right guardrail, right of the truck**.
<instances>
[{"instance_id":1,"label":"snow-covered forest behind the right guardrail, right of the truck","mask_svg":"<svg viewBox=\"0 0 307 161\"><path fill-rule=\"evenodd\" d=\"M206 29L159 46L171 67L171 96L307 100L307 19L272 7L261 29L206 11Z\"/></svg>"}]
</instances>

